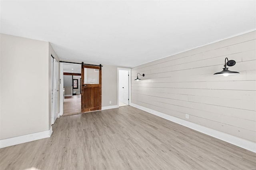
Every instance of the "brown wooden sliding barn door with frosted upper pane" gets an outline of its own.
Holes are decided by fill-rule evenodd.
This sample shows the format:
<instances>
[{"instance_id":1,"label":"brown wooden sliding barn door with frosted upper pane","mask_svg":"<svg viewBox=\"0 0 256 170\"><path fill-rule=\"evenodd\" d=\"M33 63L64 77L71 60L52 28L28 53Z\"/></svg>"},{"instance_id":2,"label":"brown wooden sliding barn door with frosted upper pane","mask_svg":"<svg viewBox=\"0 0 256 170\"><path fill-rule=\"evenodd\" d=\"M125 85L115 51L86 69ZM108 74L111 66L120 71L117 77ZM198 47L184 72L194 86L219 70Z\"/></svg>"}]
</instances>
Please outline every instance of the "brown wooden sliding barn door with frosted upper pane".
<instances>
[{"instance_id":1,"label":"brown wooden sliding barn door with frosted upper pane","mask_svg":"<svg viewBox=\"0 0 256 170\"><path fill-rule=\"evenodd\" d=\"M99 66L82 66L82 112L101 110L101 69Z\"/></svg>"}]
</instances>

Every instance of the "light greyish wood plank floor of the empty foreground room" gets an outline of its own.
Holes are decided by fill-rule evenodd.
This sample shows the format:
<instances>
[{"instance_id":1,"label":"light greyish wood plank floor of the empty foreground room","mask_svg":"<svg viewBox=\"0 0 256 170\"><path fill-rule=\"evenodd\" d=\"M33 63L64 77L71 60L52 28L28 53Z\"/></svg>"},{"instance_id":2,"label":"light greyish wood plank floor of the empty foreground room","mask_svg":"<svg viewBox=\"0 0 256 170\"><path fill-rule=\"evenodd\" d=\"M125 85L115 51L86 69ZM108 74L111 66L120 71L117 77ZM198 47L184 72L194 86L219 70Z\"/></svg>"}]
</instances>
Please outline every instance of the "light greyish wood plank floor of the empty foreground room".
<instances>
[{"instance_id":1,"label":"light greyish wood plank floor of the empty foreground room","mask_svg":"<svg viewBox=\"0 0 256 170\"><path fill-rule=\"evenodd\" d=\"M50 138L0 149L0 169L252 170L256 154L131 106L60 117Z\"/></svg>"}]
</instances>

